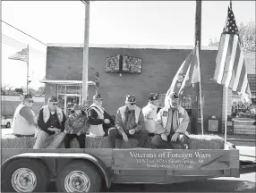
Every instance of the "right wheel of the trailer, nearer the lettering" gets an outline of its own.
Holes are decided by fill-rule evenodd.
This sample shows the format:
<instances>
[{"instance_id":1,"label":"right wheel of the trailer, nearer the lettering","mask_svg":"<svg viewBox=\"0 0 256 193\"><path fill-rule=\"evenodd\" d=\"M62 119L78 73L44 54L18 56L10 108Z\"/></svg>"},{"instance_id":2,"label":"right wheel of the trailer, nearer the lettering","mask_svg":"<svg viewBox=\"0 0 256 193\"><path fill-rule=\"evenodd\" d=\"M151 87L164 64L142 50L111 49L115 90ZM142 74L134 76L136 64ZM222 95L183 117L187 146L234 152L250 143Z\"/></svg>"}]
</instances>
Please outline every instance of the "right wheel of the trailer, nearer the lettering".
<instances>
[{"instance_id":1,"label":"right wheel of the trailer, nearer the lettering","mask_svg":"<svg viewBox=\"0 0 256 193\"><path fill-rule=\"evenodd\" d=\"M74 161L58 172L55 184L58 192L98 192L102 178L98 169L88 162Z\"/></svg>"}]
</instances>

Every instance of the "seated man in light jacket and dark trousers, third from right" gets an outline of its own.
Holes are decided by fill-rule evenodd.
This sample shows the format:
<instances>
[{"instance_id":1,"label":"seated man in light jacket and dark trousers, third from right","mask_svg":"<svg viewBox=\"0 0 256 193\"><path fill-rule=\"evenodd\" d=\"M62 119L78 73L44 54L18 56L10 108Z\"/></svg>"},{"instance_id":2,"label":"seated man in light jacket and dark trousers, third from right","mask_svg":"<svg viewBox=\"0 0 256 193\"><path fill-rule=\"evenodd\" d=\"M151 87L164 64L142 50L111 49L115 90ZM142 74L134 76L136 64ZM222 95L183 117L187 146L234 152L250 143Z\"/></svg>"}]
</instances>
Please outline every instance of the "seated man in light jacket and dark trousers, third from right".
<instances>
[{"instance_id":1,"label":"seated man in light jacket and dark trousers, third from right","mask_svg":"<svg viewBox=\"0 0 256 193\"><path fill-rule=\"evenodd\" d=\"M125 142L128 142L128 138L137 138L139 139L138 147L146 146L149 132L145 128L141 108L135 104L135 97L128 95L125 105L117 110L115 128L108 131L111 148L115 148L115 138L123 138Z\"/></svg>"}]
</instances>

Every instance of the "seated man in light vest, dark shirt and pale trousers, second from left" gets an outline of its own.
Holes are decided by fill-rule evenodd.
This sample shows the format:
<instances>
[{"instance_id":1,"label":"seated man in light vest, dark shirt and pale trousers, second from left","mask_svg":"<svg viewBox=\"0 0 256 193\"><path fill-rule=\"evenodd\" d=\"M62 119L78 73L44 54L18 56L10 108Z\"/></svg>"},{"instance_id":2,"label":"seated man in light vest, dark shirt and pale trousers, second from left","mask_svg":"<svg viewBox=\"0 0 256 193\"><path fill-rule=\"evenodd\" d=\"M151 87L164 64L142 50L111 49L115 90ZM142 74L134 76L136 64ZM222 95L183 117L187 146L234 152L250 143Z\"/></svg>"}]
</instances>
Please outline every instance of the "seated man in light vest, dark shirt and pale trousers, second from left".
<instances>
[{"instance_id":1,"label":"seated man in light vest, dark shirt and pale trousers, second from left","mask_svg":"<svg viewBox=\"0 0 256 193\"><path fill-rule=\"evenodd\" d=\"M64 140L64 111L59 108L55 96L49 97L48 104L38 113L38 131L35 134L36 142L33 148L58 148Z\"/></svg>"}]
</instances>

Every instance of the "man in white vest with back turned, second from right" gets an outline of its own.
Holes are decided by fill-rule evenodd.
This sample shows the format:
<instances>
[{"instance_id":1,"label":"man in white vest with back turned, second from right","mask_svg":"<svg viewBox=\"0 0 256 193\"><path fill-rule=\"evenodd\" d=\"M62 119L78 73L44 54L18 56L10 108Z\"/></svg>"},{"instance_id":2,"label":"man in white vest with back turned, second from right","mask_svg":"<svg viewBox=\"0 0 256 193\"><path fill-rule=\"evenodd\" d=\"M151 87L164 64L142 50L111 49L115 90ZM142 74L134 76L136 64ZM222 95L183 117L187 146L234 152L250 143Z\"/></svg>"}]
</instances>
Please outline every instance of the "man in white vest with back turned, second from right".
<instances>
[{"instance_id":1,"label":"man in white vest with back turned, second from right","mask_svg":"<svg viewBox=\"0 0 256 193\"><path fill-rule=\"evenodd\" d=\"M149 136L154 136L156 131L156 120L158 116L158 112L161 108L159 108L160 95L158 93L150 93L149 94L149 104L142 108L142 113L144 115L144 122L146 126L146 130L149 131Z\"/></svg>"}]
</instances>

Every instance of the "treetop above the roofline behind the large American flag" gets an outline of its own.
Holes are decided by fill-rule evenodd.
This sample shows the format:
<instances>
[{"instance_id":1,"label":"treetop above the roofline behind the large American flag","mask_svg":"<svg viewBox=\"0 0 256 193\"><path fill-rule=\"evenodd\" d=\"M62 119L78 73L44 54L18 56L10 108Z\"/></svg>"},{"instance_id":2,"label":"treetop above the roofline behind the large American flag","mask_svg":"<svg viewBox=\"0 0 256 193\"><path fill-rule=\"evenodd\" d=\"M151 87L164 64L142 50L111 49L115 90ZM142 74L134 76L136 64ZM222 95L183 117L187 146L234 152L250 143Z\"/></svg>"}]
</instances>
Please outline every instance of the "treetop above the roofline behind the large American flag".
<instances>
[{"instance_id":1,"label":"treetop above the roofline behind the large American flag","mask_svg":"<svg viewBox=\"0 0 256 193\"><path fill-rule=\"evenodd\" d=\"M246 24L243 22L240 23L238 28L239 37L241 40L241 46L246 51L252 51L255 52L255 22L250 21ZM209 39L209 46L218 46L219 45L219 39L215 38L213 41L211 38Z\"/></svg>"}]
</instances>

